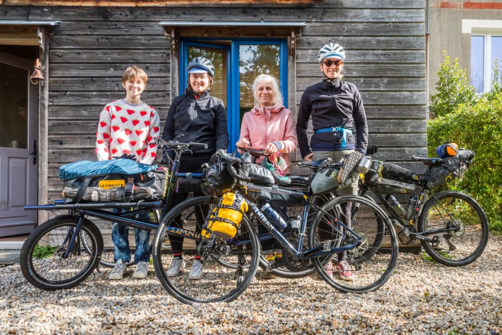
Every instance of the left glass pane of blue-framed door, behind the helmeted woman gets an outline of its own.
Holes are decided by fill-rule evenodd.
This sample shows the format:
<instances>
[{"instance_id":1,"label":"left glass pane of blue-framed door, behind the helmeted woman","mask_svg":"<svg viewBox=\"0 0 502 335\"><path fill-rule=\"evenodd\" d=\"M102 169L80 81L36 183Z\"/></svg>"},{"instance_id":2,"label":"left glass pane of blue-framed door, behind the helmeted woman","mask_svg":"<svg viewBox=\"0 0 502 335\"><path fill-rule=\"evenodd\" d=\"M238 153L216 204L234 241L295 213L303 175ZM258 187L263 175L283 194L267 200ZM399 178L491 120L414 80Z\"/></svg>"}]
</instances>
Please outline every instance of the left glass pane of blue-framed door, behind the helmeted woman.
<instances>
[{"instance_id":1,"label":"left glass pane of blue-framed door, behind the helmeted woman","mask_svg":"<svg viewBox=\"0 0 502 335\"><path fill-rule=\"evenodd\" d=\"M213 49L206 47L188 47L188 62L195 57L205 57L211 61L214 66L213 85L211 86L211 95L215 96L226 104L226 50Z\"/></svg>"}]
</instances>

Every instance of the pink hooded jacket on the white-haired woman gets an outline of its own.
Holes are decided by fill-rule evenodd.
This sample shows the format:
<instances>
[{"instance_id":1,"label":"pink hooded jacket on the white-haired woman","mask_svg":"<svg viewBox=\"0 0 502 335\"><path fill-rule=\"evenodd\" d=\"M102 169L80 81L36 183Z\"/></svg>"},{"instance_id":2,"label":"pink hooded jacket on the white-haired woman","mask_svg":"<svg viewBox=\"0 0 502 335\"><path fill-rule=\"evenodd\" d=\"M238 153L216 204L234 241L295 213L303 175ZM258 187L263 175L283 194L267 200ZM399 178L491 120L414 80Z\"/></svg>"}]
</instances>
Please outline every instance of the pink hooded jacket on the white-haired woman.
<instances>
[{"instance_id":1,"label":"pink hooded jacket on the white-haired woman","mask_svg":"<svg viewBox=\"0 0 502 335\"><path fill-rule=\"evenodd\" d=\"M280 156L288 166L284 173L289 173L291 161L288 153L296 150L296 130L293 113L282 104L260 108L255 106L244 114L240 126L240 137L249 141L250 147L263 149L270 142L279 144ZM263 157L257 160L262 161Z\"/></svg>"}]
</instances>

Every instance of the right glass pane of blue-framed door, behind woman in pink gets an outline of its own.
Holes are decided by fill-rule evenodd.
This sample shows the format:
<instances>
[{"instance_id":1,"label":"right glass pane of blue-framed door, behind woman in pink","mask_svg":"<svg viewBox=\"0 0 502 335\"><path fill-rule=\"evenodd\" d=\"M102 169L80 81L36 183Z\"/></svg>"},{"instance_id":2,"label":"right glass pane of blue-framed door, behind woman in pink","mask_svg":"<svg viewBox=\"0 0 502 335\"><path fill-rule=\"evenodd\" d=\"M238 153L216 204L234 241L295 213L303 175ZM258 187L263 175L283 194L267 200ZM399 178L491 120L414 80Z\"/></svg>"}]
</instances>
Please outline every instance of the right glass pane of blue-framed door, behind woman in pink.
<instances>
[{"instance_id":1,"label":"right glass pane of blue-framed door, behind woman in pink","mask_svg":"<svg viewBox=\"0 0 502 335\"><path fill-rule=\"evenodd\" d=\"M260 74L269 74L280 81L279 45L239 46L239 111L240 121L255 105L253 82Z\"/></svg>"}]
</instances>

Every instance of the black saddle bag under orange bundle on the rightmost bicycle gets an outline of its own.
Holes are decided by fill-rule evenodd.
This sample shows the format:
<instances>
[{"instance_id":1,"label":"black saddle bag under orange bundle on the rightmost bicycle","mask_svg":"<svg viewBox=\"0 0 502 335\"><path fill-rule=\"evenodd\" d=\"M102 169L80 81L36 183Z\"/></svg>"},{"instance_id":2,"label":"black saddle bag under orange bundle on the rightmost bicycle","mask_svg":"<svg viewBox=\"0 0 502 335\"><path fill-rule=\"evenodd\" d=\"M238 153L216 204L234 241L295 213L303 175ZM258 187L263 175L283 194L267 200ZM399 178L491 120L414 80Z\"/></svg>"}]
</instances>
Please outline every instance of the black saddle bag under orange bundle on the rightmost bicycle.
<instances>
[{"instance_id":1,"label":"black saddle bag under orange bundle on the rightmost bicycle","mask_svg":"<svg viewBox=\"0 0 502 335\"><path fill-rule=\"evenodd\" d=\"M427 188L441 186L460 177L472 164L474 151L459 150L456 156L443 158L441 164L432 167Z\"/></svg>"}]
</instances>

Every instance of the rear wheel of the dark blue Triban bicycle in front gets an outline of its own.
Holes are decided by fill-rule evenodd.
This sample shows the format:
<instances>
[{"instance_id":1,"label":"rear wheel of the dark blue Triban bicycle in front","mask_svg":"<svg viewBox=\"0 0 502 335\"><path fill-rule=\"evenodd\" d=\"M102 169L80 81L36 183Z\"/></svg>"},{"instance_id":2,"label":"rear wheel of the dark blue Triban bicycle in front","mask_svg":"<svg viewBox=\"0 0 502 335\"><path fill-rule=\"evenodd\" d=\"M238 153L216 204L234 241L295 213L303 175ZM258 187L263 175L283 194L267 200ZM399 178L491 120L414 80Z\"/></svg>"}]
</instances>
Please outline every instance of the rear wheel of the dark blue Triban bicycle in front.
<instances>
[{"instance_id":1,"label":"rear wheel of the dark blue Triban bicycle in front","mask_svg":"<svg viewBox=\"0 0 502 335\"><path fill-rule=\"evenodd\" d=\"M357 210L351 213L353 206ZM342 292L367 293L384 285L393 274L398 259L398 241L387 214L374 202L352 195L336 197L321 208L312 222L309 247L320 247L322 251L354 247L348 249L346 255L333 253L313 258L320 276ZM353 230L355 235L342 229L339 222L349 227L351 222L357 222ZM368 239L372 231L362 232L357 226L373 227L373 233L378 234L379 222L383 222L388 235L381 244L374 246ZM358 238L359 243L356 242ZM361 255L371 257L361 258ZM346 264L340 263L342 261ZM338 263L344 267L339 269Z\"/></svg>"}]
</instances>

